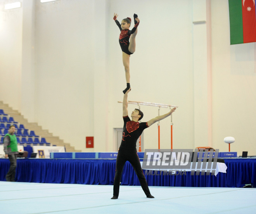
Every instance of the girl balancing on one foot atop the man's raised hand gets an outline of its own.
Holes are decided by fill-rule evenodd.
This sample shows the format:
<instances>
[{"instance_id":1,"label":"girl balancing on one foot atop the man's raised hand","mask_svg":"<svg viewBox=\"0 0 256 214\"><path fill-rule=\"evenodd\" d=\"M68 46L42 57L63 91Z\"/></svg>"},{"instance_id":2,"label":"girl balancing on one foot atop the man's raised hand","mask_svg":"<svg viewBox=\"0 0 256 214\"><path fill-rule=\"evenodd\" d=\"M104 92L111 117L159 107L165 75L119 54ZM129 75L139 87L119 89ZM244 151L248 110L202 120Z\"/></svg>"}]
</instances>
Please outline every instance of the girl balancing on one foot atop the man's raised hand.
<instances>
[{"instance_id":1,"label":"girl balancing on one foot atop the man's raised hand","mask_svg":"<svg viewBox=\"0 0 256 214\"><path fill-rule=\"evenodd\" d=\"M126 19L123 19L121 21L121 24L119 21L116 20L118 17L118 14L114 13L114 21L116 22L117 26L119 27L121 33L119 35L119 44L121 46L121 49L123 51L123 65L125 67L125 79L126 79L126 89L123 90L123 93L125 94L126 91L130 89L130 55L135 52L135 37L138 32L138 24L140 23L140 20L138 19L138 15L134 14L134 24L135 26L131 31L129 30L129 27L131 26L131 18L127 17ZM129 39L130 42L129 42Z\"/></svg>"}]
</instances>

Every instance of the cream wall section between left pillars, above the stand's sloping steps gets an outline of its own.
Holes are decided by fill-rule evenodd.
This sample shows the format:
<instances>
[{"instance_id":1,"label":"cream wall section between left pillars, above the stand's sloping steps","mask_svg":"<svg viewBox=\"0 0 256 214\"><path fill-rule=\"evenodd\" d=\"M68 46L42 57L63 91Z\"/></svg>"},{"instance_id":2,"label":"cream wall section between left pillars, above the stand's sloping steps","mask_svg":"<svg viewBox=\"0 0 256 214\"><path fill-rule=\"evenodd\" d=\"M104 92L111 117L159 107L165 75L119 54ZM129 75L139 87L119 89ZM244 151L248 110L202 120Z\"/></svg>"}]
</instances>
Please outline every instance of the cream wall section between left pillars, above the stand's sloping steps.
<instances>
[{"instance_id":1,"label":"cream wall section between left pillars, above the stand's sloping steps","mask_svg":"<svg viewBox=\"0 0 256 214\"><path fill-rule=\"evenodd\" d=\"M36 120L85 147L93 136L93 1L36 4Z\"/></svg>"}]
</instances>

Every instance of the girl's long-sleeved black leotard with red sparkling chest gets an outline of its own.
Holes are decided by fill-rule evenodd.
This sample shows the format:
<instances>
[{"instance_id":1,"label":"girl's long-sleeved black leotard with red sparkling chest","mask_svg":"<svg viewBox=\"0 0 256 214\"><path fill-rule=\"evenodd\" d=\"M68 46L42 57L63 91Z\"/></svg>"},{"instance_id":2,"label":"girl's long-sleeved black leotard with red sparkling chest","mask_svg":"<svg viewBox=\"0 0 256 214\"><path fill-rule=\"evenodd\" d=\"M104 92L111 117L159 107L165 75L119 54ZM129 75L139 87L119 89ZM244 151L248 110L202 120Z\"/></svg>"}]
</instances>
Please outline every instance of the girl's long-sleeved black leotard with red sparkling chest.
<instances>
[{"instance_id":1,"label":"girl's long-sleeved black leotard with red sparkling chest","mask_svg":"<svg viewBox=\"0 0 256 214\"><path fill-rule=\"evenodd\" d=\"M119 23L119 21L115 20L115 22L116 22L117 26L119 27L119 29L121 31L121 33L119 35L119 44L120 44L120 47L121 47L122 51L127 53L128 55L133 54L129 51L129 44L130 44L129 39L130 39L131 34L133 34L136 31L136 29L138 27L138 24L140 22L135 24L135 26L133 27L133 29L131 29L131 31L129 29L123 30L121 28L121 24Z\"/></svg>"}]
</instances>

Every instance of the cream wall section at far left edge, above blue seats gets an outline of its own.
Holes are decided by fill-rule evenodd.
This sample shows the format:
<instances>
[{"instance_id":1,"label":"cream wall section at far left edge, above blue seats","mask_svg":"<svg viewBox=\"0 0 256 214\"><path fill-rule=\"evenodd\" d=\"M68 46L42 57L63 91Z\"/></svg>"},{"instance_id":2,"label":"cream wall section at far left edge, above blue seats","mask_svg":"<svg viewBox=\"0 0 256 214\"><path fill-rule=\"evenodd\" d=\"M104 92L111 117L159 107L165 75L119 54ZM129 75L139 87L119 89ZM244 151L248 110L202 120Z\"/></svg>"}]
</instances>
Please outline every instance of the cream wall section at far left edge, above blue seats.
<instances>
[{"instance_id":1,"label":"cream wall section at far left edge, above blue seats","mask_svg":"<svg viewBox=\"0 0 256 214\"><path fill-rule=\"evenodd\" d=\"M20 110L22 8L4 10L4 3L0 1L0 100Z\"/></svg>"}]
</instances>

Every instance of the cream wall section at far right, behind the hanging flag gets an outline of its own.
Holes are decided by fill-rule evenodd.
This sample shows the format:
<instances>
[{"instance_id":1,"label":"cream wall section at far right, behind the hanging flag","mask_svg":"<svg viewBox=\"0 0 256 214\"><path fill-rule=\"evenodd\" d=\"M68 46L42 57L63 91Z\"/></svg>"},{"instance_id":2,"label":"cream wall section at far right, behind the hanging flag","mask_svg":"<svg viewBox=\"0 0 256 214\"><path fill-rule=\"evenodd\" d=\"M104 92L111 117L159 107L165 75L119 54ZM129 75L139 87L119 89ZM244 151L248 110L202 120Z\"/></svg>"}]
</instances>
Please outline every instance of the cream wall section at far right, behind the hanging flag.
<instances>
[{"instance_id":1,"label":"cream wall section at far right, behind the hanging flag","mask_svg":"<svg viewBox=\"0 0 256 214\"><path fill-rule=\"evenodd\" d=\"M236 139L231 151L256 151L256 47L230 45L228 1L212 1L213 147L227 151L223 139Z\"/></svg>"}]
</instances>

